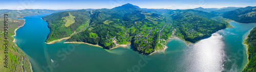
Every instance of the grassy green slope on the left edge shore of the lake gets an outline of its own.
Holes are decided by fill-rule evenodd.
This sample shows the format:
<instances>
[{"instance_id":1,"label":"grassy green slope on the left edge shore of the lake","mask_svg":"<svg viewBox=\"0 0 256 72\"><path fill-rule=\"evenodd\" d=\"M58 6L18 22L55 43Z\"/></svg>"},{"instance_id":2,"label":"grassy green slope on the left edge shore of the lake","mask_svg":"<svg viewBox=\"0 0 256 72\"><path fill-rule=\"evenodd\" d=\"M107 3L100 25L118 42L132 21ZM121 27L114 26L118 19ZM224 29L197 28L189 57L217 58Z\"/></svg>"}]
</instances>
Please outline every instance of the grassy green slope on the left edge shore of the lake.
<instances>
[{"instance_id":1,"label":"grassy green slope on the left edge shore of the lake","mask_svg":"<svg viewBox=\"0 0 256 72\"><path fill-rule=\"evenodd\" d=\"M18 26L21 26L25 23L24 19L8 19L8 68L4 67L4 57L5 53L5 38L4 38L4 19L0 18L0 70L5 71L5 72L10 72L10 71L27 71L30 72L31 70L31 65L29 62L28 57L20 50L15 43L13 43L14 38L12 35L14 35L14 30L18 28Z\"/></svg>"}]
</instances>

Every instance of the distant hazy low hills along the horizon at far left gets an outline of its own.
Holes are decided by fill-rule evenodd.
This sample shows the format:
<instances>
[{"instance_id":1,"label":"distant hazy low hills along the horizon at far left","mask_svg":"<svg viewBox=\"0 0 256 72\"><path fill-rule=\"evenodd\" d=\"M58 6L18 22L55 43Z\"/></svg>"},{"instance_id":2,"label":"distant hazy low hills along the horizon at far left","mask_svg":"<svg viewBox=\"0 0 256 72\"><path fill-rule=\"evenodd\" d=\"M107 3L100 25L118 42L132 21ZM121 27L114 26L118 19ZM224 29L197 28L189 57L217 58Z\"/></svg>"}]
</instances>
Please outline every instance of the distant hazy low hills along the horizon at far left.
<instances>
[{"instance_id":1,"label":"distant hazy low hills along the horizon at far left","mask_svg":"<svg viewBox=\"0 0 256 72\"><path fill-rule=\"evenodd\" d=\"M42 10L42 9L25 9L25 10L0 10L0 17L3 17L4 14L8 14L9 18L20 18L29 15L36 14L44 14L44 13L55 13L55 12L64 12L64 11L72 11L72 9L68 10Z\"/></svg>"}]
</instances>

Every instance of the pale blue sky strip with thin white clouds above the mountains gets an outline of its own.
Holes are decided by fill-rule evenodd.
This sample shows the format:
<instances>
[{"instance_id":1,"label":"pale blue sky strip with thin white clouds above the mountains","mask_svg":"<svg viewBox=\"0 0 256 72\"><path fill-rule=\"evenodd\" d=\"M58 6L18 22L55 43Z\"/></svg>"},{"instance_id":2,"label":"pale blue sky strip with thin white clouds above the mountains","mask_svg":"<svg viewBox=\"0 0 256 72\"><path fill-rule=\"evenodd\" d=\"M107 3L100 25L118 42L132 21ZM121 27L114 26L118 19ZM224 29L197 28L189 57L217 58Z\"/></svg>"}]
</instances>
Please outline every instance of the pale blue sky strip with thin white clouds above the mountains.
<instances>
[{"instance_id":1,"label":"pale blue sky strip with thin white clouds above the mountains","mask_svg":"<svg viewBox=\"0 0 256 72\"><path fill-rule=\"evenodd\" d=\"M193 9L256 6L256 0L0 0L0 9L112 9L124 4L148 9Z\"/></svg>"}]
</instances>

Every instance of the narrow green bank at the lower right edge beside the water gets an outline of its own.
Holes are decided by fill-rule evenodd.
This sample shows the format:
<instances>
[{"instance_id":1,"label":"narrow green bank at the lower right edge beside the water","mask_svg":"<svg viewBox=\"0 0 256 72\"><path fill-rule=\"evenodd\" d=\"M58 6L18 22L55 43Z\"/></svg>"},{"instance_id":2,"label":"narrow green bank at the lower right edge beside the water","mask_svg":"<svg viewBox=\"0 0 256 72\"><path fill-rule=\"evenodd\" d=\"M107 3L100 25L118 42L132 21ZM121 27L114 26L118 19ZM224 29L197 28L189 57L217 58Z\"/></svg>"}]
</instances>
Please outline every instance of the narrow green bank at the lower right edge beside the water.
<instances>
[{"instance_id":1,"label":"narrow green bank at the lower right edge beside the water","mask_svg":"<svg viewBox=\"0 0 256 72\"><path fill-rule=\"evenodd\" d=\"M254 72L256 71L256 28L253 28L248 35L246 40L248 45L248 60L249 63L246 65L243 71Z\"/></svg>"}]
</instances>

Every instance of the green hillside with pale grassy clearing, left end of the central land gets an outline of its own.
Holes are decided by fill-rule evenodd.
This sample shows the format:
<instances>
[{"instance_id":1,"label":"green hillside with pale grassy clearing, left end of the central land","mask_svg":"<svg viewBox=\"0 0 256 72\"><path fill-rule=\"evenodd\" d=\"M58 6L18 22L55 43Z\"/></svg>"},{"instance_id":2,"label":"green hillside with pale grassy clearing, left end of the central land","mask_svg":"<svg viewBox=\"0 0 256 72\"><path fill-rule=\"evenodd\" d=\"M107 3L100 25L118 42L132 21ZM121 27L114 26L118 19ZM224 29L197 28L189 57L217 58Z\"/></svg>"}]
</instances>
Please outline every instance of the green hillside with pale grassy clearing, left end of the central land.
<instances>
[{"instance_id":1,"label":"green hillside with pale grassy clearing, left end of the central land","mask_svg":"<svg viewBox=\"0 0 256 72\"><path fill-rule=\"evenodd\" d=\"M58 40L61 38L69 37L75 30L81 28L79 26L87 24L91 19L90 11L81 13L81 12L61 12L61 13L54 13L42 19L46 20L50 28L50 33L47 37L46 42L51 42L54 40ZM85 27L86 27L85 26Z\"/></svg>"}]
</instances>

